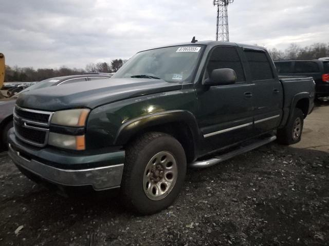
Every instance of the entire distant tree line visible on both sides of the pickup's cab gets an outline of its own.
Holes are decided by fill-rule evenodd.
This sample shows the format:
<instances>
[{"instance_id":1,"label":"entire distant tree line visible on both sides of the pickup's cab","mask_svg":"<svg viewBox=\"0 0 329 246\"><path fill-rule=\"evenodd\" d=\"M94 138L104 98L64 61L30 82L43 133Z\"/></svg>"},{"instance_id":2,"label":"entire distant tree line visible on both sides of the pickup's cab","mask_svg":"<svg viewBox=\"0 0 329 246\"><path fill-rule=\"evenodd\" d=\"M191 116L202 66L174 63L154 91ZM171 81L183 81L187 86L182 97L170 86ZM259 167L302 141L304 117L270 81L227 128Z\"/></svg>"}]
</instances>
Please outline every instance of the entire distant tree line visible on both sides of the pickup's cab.
<instances>
[{"instance_id":1,"label":"entire distant tree line visible on both sides of the pickup's cab","mask_svg":"<svg viewBox=\"0 0 329 246\"><path fill-rule=\"evenodd\" d=\"M318 59L321 57L329 57L329 43L316 43L305 47L290 44L285 50L273 48L269 49L268 52L273 60ZM125 61L126 60L122 59L114 59L111 61L111 64L89 63L86 65L85 69L61 67L59 69L40 68L35 70L32 67L20 68L17 66L6 66L5 81L41 81L46 78L82 74L85 72L112 73L118 71Z\"/></svg>"}]
</instances>

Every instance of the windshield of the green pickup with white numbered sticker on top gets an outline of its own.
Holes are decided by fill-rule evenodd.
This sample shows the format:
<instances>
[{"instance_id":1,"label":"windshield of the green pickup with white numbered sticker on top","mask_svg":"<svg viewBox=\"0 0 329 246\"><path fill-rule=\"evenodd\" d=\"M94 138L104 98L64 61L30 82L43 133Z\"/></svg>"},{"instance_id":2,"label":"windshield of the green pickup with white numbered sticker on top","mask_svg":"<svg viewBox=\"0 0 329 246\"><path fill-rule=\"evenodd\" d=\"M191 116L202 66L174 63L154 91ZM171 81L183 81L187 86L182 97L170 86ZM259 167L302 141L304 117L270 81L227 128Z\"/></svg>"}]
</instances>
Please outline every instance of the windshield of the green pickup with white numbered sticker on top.
<instances>
[{"instance_id":1,"label":"windshield of the green pickup with white numbered sticker on top","mask_svg":"<svg viewBox=\"0 0 329 246\"><path fill-rule=\"evenodd\" d=\"M150 78L169 82L191 81L203 46L174 46L134 55L113 78Z\"/></svg>"}]
</instances>

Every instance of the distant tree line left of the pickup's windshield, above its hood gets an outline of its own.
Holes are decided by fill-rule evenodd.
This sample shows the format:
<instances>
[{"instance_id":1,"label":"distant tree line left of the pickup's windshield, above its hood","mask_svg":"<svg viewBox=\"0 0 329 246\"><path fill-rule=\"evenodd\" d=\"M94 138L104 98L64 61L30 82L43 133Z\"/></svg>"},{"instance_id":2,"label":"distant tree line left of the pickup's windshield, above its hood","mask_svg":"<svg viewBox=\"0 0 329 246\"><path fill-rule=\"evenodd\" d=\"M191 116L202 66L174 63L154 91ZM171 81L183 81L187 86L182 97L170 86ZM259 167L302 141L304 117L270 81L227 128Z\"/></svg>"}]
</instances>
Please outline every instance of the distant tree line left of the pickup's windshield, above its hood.
<instances>
[{"instance_id":1,"label":"distant tree line left of the pickup's windshield, above its hood","mask_svg":"<svg viewBox=\"0 0 329 246\"><path fill-rule=\"evenodd\" d=\"M86 65L85 69L77 68L67 68L65 66L59 69L52 68L39 68L33 69L32 67L20 68L17 66L10 67L6 66L5 71L5 82L10 81L41 81L46 78L67 76L67 75L77 75L86 72L99 72L99 73L113 73L119 70L122 65L126 62L123 59L114 59L111 64L108 63L89 63Z\"/></svg>"}]
</instances>

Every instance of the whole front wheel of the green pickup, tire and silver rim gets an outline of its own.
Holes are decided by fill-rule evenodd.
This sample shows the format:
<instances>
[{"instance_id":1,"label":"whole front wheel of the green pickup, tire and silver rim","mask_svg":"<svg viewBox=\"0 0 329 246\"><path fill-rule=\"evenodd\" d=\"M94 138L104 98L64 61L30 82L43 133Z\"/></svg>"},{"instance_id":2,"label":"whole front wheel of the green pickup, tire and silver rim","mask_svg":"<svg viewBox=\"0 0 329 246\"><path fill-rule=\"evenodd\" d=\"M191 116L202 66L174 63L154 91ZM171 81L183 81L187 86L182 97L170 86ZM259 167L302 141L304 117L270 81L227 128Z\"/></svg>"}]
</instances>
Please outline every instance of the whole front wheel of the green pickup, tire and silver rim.
<instances>
[{"instance_id":1,"label":"whole front wheel of the green pickup, tire and silver rim","mask_svg":"<svg viewBox=\"0 0 329 246\"><path fill-rule=\"evenodd\" d=\"M121 182L125 204L141 214L153 214L170 206L186 175L186 156L172 136L149 132L126 148Z\"/></svg>"}]
</instances>

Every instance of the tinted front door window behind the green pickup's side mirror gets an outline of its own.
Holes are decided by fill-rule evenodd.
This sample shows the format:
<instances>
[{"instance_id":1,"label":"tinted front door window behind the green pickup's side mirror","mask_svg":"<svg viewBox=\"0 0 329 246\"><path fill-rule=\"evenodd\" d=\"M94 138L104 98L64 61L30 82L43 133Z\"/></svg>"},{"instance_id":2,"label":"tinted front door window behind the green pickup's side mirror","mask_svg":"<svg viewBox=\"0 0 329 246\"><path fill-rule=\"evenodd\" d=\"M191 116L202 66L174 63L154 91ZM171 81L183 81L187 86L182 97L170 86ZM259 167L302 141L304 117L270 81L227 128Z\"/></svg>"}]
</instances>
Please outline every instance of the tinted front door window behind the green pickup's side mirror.
<instances>
[{"instance_id":1,"label":"tinted front door window behind the green pickup's side mirror","mask_svg":"<svg viewBox=\"0 0 329 246\"><path fill-rule=\"evenodd\" d=\"M230 68L236 73L236 82L246 81L239 55L234 47L217 47L211 53L207 65L208 76L212 70Z\"/></svg>"}]
</instances>

